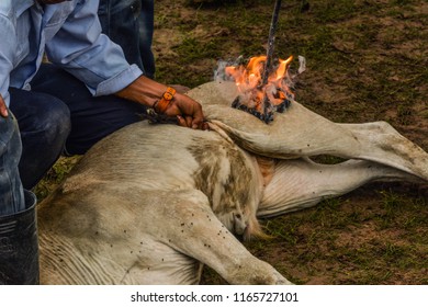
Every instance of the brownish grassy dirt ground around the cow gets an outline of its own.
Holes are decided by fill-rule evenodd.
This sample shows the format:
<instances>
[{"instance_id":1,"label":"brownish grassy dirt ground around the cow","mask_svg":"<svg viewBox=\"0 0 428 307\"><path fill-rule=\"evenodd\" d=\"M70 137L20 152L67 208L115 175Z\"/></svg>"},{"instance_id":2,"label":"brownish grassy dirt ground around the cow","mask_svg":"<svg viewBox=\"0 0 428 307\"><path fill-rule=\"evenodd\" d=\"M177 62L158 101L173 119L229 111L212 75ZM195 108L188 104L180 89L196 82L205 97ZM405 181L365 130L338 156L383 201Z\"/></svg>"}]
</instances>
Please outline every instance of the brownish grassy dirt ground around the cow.
<instances>
[{"instance_id":1,"label":"brownish grassy dirt ground around the cow","mask_svg":"<svg viewBox=\"0 0 428 307\"><path fill-rule=\"evenodd\" d=\"M386 121L428 150L428 3L282 2L274 56L307 61L296 100L336 122ZM156 78L195 87L219 59L266 54L272 10L273 1L156 1ZM428 284L427 205L427 185L371 184L264 220L273 238L246 245L294 283ZM224 281L206 269L203 283Z\"/></svg>"}]
</instances>

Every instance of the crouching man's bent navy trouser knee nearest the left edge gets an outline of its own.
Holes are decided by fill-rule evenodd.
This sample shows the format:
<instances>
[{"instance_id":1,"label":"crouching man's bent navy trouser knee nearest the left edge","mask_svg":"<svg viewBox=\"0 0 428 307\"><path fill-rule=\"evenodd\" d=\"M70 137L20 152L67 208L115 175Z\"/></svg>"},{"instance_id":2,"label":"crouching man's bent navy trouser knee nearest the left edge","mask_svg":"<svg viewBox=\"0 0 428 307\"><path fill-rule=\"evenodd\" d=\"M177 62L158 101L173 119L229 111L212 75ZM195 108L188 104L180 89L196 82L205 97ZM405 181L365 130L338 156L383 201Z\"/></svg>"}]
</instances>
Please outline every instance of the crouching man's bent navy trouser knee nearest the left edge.
<instances>
[{"instance_id":1,"label":"crouching man's bent navy trouser knee nearest the left edge","mask_svg":"<svg viewBox=\"0 0 428 307\"><path fill-rule=\"evenodd\" d=\"M70 132L70 113L59 99L44 92L10 88L9 93L23 146L21 180L31 190L61 154Z\"/></svg>"}]
</instances>

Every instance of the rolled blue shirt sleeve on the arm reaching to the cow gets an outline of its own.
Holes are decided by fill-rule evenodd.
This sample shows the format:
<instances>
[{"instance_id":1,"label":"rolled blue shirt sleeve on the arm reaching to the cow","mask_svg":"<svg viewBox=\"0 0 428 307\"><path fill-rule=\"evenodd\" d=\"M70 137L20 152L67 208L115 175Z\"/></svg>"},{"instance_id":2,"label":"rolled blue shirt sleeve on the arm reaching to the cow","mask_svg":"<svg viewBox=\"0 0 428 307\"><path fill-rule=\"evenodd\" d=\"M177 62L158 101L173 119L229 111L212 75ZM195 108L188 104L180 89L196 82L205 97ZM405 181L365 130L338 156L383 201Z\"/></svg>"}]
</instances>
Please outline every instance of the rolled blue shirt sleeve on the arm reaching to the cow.
<instances>
[{"instance_id":1,"label":"rolled blue shirt sleeve on the arm reaching to the cow","mask_svg":"<svg viewBox=\"0 0 428 307\"><path fill-rule=\"evenodd\" d=\"M98 1L79 1L61 29L46 43L49 60L82 80L93 95L117 92L143 71L101 33Z\"/></svg>"}]
</instances>

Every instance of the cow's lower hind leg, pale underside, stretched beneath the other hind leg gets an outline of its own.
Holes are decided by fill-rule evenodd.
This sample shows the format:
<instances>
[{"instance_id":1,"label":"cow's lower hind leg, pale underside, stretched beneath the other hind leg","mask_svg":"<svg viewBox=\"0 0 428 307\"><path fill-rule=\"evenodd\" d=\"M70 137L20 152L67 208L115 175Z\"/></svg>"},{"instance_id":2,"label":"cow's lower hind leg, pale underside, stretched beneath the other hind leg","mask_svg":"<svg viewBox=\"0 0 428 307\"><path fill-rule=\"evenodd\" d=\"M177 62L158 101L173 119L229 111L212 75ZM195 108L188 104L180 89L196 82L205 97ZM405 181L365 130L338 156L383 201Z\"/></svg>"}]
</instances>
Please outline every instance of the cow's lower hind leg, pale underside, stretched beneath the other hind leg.
<instances>
[{"instance_id":1,"label":"cow's lower hind leg, pale underside, stretched beneath the other hind leg","mask_svg":"<svg viewBox=\"0 0 428 307\"><path fill-rule=\"evenodd\" d=\"M311 207L373 181L413 181L415 175L371 161L319 164L309 159L280 160L264 190L257 215L269 217Z\"/></svg>"}]
</instances>

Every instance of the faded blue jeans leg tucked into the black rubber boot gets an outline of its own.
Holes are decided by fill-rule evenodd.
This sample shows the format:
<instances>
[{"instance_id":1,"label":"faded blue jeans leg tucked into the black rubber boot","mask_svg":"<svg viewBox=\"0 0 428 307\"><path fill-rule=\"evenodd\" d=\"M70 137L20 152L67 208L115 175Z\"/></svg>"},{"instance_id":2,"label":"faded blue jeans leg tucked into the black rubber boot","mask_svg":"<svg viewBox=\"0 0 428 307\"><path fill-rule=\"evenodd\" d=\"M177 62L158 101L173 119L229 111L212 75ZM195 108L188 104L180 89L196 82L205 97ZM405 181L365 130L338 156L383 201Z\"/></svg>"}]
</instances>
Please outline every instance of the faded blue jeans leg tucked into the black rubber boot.
<instances>
[{"instance_id":1,"label":"faded blue jeans leg tucked into the black rubber boot","mask_svg":"<svg viewBox=\"0 0 428 307\"><path fill-rule=\"evenodd\" d=\"M24 194L18 171L20 156L21 138L18 123L13 114L9 114L7 118L0 116L0 216L12 215L25 209Z\"/></svg>"}]
</instances>

